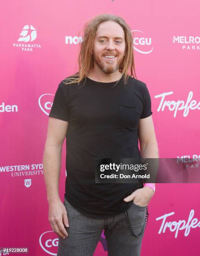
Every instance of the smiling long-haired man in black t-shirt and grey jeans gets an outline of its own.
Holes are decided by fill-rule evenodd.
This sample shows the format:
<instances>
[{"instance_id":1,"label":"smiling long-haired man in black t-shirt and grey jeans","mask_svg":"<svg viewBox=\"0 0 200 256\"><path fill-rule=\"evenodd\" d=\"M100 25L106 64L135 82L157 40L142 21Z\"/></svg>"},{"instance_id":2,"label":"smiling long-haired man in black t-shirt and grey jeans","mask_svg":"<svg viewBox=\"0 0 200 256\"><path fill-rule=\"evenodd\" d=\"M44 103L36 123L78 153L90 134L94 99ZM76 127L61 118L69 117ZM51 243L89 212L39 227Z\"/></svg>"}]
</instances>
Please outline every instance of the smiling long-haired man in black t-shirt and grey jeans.
<instances>
[{"instance_id":1,"label":"smiling long-haired man in black t-shirt and grey jeans","mask_svg":"<svg viewBox=\"0 0 200 256\"><path fill-rule=\"evenodd\" d=\"M99 158L158 158L151 99L146 84L134 78L132 44L122 18L96 16L84 30L78 73L56 91L43 170L59 256L93 255L103 229L109 256L140 255L154 184L98 184L94 170ZM63 204L58 183L65 137Z\"/></svg>"}]
</instances>

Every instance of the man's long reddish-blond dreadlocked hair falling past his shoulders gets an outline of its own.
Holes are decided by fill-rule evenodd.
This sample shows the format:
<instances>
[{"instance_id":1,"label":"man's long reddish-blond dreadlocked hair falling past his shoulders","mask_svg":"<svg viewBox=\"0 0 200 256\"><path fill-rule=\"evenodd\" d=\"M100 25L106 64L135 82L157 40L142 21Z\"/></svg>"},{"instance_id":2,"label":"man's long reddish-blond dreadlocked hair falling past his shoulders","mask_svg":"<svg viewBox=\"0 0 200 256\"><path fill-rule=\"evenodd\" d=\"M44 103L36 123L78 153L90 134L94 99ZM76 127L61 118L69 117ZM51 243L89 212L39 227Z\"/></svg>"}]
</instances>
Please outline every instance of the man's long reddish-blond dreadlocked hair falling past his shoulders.
<instances>
[{"instance_id":1,"label":"man's long reddish-blond dreadlocked hair falling past his shoulders","mask_svg":"<svg viewBox=\"0 0 200 256\"><path fill-rule=\"evenodd\" d=\"M101 14L95 16L84 25L84 36L83 41L81 42L80 54L78 56L79 70L76 74L67 77L66 82L63 81L65 84L78 83L79 85L82 80L85 79L86 81L86 77L89 76L90 70L94 67L92 51L95 33L99 24L104 21L114 21L124 30L126 48L124 59L119 66L119 72L122 73L122 76L124 75L124 84L127 83L129 75L137 79L134 66L133 38L130 27L121 17L112 14ZM119 82L119 80L117 82Z\"/></svg>"}]
</instances>

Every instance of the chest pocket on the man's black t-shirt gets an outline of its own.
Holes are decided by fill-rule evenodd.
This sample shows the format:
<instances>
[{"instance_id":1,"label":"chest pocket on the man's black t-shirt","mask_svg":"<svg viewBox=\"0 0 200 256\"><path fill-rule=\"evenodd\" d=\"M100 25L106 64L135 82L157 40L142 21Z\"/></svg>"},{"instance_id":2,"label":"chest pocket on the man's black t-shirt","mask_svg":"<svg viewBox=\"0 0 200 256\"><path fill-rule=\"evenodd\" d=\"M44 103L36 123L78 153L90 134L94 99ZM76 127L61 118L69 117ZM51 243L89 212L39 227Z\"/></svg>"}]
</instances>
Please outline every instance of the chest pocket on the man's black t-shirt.
<instances>
[{"instance_id":1,"label":"chest pocket on the man's black t-shirt","mask_svg":"<svg viewBox=\"0 0 200 256\"><path fill-rule=\"evenodd\" d=\"M125 128L135 128L139 122L136 105L132 103L119 104L119 122Z\"/></svg>"}]
</instances>

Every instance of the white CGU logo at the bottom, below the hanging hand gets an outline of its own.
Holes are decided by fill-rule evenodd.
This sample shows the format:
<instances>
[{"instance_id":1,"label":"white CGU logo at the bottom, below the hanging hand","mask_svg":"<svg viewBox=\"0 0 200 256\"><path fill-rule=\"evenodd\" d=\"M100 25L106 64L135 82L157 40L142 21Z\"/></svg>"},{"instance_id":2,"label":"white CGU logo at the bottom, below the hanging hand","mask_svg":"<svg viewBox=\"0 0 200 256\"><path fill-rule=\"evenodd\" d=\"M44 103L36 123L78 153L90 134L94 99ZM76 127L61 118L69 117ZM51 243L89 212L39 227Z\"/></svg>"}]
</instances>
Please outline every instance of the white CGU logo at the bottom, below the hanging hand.
<instances>
[{"instance_id":1,"label":"white CGU logo at the bottom, below the hanging hand","mask_svg":"<svg viewBox=\"0 0 200 256\"><path fill-rule=\"evenodd\" d=\"M52 233L54 236L56 234L53 231L46 231L41 234L39 238L39 243L41 248L48 254L57 255L57 247L58 247L58 236L56 238L52 238Z\"/></svg>"}]
</instances>

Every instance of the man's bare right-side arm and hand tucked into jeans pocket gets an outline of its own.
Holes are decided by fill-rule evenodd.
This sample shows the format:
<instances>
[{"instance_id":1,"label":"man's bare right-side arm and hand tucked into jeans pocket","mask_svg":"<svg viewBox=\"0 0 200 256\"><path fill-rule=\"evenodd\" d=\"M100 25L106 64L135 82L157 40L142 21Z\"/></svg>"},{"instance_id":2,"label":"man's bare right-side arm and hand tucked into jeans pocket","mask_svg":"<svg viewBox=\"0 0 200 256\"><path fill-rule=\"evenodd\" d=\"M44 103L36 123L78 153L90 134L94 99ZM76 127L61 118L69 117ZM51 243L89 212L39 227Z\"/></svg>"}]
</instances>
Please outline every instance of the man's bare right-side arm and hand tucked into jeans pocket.
<instances>
[{"instance_id":1,"label":"man's bare right-side arm and hand tucked into jeans pocket","mask_svg":"<svg viewBox=\"0 0 200 256\"><path fill-rule=\"evenodd\" d=\"M138 135L142 158L158 159L158 146L152 115L139 120ZM154 190L147 185L141 189L136 189L131 195L124 198L124 201L130 202L133 200L136 205L147 206L153 195Z\"/></svg>"}]
</instances>

